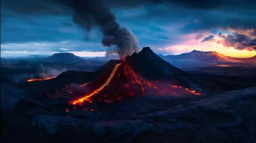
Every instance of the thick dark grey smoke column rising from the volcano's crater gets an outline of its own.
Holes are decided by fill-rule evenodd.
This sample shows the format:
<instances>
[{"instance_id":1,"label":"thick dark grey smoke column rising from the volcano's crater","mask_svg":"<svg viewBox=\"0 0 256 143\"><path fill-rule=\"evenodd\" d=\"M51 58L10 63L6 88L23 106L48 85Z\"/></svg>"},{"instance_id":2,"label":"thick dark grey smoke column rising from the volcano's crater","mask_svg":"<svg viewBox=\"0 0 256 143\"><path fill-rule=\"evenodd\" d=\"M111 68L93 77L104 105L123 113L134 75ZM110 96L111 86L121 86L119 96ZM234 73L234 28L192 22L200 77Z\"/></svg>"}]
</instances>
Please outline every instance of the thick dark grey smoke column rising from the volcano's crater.
<instances>
[{"instance_id":1,"label":"thick dark grey smoke column rising from the volcano's crater","mask_svg":"<svg viewBox=\"0 0 256 143\"><path fill-rule=\"evenodd\" d=\"M73 20L85 30L98 25L103 33L102 45L110 47L106 55L117 53L120 58L139 51L138 40L133 33L121 27L103 0L58 0L73 11Z\"/></svg>"}]
</instances>

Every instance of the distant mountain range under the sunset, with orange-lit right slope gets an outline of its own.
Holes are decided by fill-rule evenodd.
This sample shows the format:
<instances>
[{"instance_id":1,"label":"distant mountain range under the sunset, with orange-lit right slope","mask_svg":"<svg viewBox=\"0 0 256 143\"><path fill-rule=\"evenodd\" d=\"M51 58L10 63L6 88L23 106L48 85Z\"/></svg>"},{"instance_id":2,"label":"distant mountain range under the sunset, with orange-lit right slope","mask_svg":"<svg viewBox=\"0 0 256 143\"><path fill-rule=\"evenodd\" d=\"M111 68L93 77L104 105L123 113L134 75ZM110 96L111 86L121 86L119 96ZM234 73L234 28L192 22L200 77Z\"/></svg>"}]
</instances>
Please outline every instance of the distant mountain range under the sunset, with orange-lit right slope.
<instances>
[{"instance_id":1,"label":"distant mountain range under the sunset, with orange-lit right slope","mask_svg":"<svg viewBox=\"0 0 256 143\"><path fill-rule=\"evenodd\" d=\"M249 58L236 58L225 56L217 52L209 51L197 51L193 50L190 53L183 53L180 55L167 55L161 57L166 61L188 61L188 62L216 62L216 63L227 63L227 62L242 62L242 63L256 63L256 56Z\"/></svg>"}]
</instances>

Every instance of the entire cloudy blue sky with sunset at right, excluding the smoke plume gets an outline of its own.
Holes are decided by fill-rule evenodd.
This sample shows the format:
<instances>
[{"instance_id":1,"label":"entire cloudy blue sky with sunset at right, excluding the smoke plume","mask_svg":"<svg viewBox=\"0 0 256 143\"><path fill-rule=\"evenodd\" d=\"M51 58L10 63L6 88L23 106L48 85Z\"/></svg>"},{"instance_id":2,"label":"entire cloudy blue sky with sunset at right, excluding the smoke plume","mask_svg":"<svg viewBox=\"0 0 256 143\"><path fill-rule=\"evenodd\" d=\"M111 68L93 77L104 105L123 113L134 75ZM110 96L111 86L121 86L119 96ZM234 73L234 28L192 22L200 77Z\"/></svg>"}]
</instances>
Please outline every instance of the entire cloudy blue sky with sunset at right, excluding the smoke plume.
<instances>
[{"instance_id":1,"label":"entire cloudy blue sky with sunset at right, excluding the smoke plume","mask_svg":"<svg viewBox=\"0 0 256 143\"><path fill-rule=\"evenodd\" d=\"M106 31L99 17L104 19L105 13L133 33L140 49L149 46L157 54L196 49L256 55L256 0L80 1L1 0L1 57L59 52L105 56L118 47L102 45Z\"/></svg>"}]
</instances>

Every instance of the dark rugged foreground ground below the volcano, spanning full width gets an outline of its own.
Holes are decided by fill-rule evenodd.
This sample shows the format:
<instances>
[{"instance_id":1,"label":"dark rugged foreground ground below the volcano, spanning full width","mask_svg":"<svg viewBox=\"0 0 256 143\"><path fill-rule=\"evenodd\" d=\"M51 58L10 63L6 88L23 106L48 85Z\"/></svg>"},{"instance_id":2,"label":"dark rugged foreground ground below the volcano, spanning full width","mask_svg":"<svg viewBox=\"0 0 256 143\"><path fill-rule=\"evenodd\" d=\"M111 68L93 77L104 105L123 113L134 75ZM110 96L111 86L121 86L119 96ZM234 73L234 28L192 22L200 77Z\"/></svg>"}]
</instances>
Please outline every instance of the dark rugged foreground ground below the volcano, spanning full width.
<instances>
[{"instance_id":1,"label":"dark rugged foreground ground below the volcano, spanning full width","mask_svg":"<svg viewBox=\"0 0 256 143\"><path fill-rule=\"evenodd\" d=\"M256 87L67 105L1 84L2 143L255 143Z\"/></svg>"}]
</instances>

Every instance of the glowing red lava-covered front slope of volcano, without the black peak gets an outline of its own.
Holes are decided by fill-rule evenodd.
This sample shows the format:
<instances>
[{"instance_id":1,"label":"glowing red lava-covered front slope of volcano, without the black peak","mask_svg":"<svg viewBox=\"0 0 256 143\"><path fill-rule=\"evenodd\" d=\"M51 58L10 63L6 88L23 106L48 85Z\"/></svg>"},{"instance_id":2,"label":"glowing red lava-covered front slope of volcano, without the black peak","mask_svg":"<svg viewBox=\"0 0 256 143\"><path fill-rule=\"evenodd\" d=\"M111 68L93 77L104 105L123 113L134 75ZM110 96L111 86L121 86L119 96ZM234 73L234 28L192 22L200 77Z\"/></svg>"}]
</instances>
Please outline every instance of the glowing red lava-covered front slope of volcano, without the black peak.
<instances>
[{"instance_id":1,"label":"glowing red lava-covered front slope of volcano, without the black peak","mask_svg":"<svg viewBox=\"0 0 256 143\"><path fill-rule=\"evenodd\" d=\"M100 83L102 83L102 77L81 85L81 87L91 87L90 85L99 85ZM85 101L111 103L135 95L201 95L201 93L185 87L145 79L123 59L120 64L115 65L102 86L70 103L73 105L82 104Z\"/></svg>"}]
</instances>

